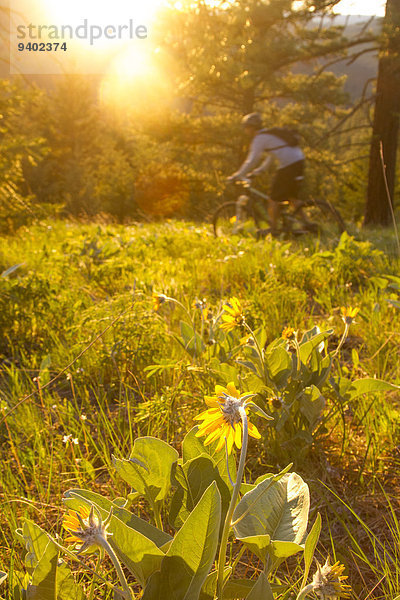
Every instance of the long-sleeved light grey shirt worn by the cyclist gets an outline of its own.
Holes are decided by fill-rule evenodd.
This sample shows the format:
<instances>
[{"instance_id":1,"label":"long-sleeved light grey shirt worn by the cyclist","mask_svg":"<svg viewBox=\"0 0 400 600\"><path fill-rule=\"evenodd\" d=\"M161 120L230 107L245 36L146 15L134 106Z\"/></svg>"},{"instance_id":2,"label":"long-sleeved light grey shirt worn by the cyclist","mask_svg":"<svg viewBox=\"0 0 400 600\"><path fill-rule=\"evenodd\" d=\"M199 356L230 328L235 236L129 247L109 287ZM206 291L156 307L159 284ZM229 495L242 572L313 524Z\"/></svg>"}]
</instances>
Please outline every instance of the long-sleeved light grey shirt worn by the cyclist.
<instances>
[{"instance_id":1,"label":"long-sleeved light grey shirt worn by the cyclist","mask_svg":"<svg viewBox=\"0 0 400 600\"><path fill-rule=\"evenodd\" d=\"M264 152L268 152L278 163L278 169L284 169L289 165L304 160L304 154L299 146L288 146L284 140L270 133L258 133L254 136L250 146L249 154L237 171L237 177L246 177L261 161ZM261 165L260 170L267 167L269 157Z\"/></svg>"}]
</instances>

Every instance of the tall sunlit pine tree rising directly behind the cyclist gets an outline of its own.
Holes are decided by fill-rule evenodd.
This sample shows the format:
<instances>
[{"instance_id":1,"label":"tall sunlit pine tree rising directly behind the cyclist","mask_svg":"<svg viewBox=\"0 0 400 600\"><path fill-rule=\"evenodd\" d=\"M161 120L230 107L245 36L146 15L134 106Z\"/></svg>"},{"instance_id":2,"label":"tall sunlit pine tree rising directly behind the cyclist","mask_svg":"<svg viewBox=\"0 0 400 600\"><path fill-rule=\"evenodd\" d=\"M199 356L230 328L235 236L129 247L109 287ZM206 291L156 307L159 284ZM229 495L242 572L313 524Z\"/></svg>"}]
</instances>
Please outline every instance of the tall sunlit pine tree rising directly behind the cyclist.
<instances>
[{"instance_id":1,"label":"tall sunlit pine tree rising directly behind the cyclist","mask_svg":"<svg viewBox=\"0 0 400 600\"><path fill-rule=\"evenodd\" d=\"M208 184L240 164L247 140L239 124L253 111L263 114L265 126L297 129L310 171L335 178L326 133L348 114L349 99L345 78L329 65L374 36L361 29L347 39L332 18L336 2L329 0L181 4L160 23L158 56L170 61L176 94L187 102L192 135L185 158L197 160L197 170L206 163Z\"/></svg>"}]
</instances>

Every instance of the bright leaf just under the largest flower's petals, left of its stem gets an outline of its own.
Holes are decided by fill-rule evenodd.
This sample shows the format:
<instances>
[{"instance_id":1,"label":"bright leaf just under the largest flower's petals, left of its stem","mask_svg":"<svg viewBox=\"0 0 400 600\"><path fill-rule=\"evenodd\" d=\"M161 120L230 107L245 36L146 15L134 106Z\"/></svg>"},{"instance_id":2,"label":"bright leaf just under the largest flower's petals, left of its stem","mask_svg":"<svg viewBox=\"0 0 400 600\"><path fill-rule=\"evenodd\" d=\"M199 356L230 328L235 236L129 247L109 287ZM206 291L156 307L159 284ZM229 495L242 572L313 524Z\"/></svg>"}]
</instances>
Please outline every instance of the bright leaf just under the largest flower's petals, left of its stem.
<instances>
[{"instance_id":1,"label":"bright leaf just under the largest flower's petals, left of its stem","mask_svg":"<svg viewBox=\"0 0 400 600\"><path fill-rule=\"evenodd\" d=\"M232 453L228 457L228 461L226 459L226 451L225 447L222 450L216 451L216 447L218 442L214 442L213 444L209 444L208 446L204 445L205 437L196 437L196 433L199 430L197 426L193 427L189 433L186 434L185 439L182 444L182 459L183 462L187 462L192 458L196 458L201 454L206 454L212 458L215 466L218 469L219 474L222 479L225 481L229 489L232 489L232 486L228 477L228 465L229 465L229 473L233 481L236 479L236 460L235 456Z\"/></svg>"}]
</instances>

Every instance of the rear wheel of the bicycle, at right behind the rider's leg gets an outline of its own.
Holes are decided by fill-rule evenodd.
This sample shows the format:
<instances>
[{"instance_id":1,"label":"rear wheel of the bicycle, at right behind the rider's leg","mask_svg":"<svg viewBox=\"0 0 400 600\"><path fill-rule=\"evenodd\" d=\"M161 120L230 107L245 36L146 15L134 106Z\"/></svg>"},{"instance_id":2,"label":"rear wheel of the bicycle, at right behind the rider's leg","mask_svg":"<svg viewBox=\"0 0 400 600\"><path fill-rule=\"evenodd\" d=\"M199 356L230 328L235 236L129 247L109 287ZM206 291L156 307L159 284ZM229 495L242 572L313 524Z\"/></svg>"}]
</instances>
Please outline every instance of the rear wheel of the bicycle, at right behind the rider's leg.
<instances>
[{"instance_id":1,"label":"rear wheel of the bicycle, at right behind the rider's leg","mask_svg":"<svg viewBox=\"0 0 400 600\"><path fill-rule=\"evenodd\" d=\"M302 202L292 213L297 224L293 233L342 234L346 225L338 209L326 200L308 199ZM305 230L305 231L302 231Z\"/></svg>"}]
</instances>

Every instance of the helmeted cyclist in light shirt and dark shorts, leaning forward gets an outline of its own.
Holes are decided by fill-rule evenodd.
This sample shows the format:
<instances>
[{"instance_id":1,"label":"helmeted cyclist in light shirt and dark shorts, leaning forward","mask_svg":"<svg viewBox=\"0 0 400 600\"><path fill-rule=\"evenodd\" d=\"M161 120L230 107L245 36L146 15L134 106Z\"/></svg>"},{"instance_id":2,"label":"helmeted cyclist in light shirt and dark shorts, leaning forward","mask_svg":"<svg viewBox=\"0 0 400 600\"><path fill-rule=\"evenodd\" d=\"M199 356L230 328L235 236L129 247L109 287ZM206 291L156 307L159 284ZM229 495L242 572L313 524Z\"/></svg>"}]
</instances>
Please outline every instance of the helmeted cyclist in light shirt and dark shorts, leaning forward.
<instances>
[{"instance_id":1,"label":"helmeted cyclist in light shirt and dark shorts, leaning forward","mask_svg":"<svg viewBox=\"0 0 400 600\"><path fill-rule=\"evenodd\" d=\"M296 204L298 200L301 182L304 178L304 154L294 134L288 130L263 129L259 113L250 113L243 117L242 127L245 134L251 138L250 150L238 171L228 177L228 182L260 175L268 168L271 160L277 161L278 170L272 182L271 201L268 205L271 231L274 233L277 230L280 203L290 201ZM284 137L279 137L279 134ZM264 152L267 152L268 156L262 161Z\"/></svg>"}]
</instances>

